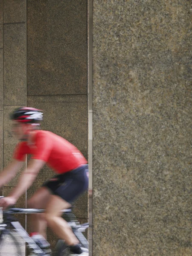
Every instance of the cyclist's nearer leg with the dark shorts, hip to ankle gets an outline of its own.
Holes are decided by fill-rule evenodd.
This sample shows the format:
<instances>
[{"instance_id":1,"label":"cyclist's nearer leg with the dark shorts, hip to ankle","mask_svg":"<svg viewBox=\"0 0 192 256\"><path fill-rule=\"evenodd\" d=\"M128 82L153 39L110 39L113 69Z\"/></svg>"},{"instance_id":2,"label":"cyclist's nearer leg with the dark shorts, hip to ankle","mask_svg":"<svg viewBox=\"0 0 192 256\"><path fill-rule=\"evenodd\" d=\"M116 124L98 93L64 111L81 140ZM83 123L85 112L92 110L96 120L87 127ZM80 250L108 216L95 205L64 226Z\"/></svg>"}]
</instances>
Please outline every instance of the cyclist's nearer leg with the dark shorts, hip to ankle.
<instances>
[{"instance_id":1,"label":"cyclist's nearer leg with the dark shorts, hip to ankle","mask_svg":"<svg viewBox=\"0 0 192 256\"><path fill-rule=\"evenodd\" d=\"M45 219L47 224L53 231L66 241L68 245L78 244L79 241L73 234L66 221L61 218L60 211L70 207L71 202L76 200L88 188L88 167L87 165L81 166L71 172L61 175L60 181L63 182L57 186L52 192L46 207ZM49 188L50 183L48 184Z\"/></svg>"}]
</instances>

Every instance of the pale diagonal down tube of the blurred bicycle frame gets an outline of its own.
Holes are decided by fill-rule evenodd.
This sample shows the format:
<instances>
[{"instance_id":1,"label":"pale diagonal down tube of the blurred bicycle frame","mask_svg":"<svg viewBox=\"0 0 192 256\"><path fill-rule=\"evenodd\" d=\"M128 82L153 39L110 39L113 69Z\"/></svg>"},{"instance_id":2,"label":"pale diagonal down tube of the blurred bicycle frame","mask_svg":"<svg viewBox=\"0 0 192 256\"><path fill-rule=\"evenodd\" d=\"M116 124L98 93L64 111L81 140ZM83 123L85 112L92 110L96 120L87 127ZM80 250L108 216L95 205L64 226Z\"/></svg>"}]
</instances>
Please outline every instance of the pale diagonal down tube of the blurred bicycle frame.
<instances>
[{"instance_id":1,"label":"pale diagonal down tube of the blurred bicycle frame","mask_svg":"<svg viewBox=\"0 0 192 256\"><path fill-rule=\"evenodd\" d=\"M13 227L15 227L15 231L26 241L28 244L27 247L32 253L35 253L37 256L46 256L43 250L33 241L32 238L28 235L28 233L24 230L21 224L18 221L11 222Z\"/></svg>"}]
</instances>

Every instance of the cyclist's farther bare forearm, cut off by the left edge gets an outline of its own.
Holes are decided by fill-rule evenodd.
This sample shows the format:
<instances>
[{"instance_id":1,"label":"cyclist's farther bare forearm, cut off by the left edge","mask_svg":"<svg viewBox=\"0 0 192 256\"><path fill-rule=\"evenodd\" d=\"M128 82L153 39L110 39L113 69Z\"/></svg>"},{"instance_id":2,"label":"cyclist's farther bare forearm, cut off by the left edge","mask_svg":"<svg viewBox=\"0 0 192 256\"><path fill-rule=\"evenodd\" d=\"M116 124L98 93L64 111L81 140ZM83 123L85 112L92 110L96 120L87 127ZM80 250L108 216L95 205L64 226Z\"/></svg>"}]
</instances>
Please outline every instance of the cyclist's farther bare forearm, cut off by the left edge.
<instances>
[{"instance_id":1,"label":"cyclist's farther bare forearm, cut off by the left edge","mask_svg":"<svg viewBox=\"0 0 192 256\"><path fill-rule=\"evenodd\" d=\"M6 168L3 169L3 172L0 173L0 187L2 187L7 182L12 180L13 177L15 177L21 165L21 161L14 159L11 163L9 163L8 166L6 166Z\"/></svg>"}]
</instances>

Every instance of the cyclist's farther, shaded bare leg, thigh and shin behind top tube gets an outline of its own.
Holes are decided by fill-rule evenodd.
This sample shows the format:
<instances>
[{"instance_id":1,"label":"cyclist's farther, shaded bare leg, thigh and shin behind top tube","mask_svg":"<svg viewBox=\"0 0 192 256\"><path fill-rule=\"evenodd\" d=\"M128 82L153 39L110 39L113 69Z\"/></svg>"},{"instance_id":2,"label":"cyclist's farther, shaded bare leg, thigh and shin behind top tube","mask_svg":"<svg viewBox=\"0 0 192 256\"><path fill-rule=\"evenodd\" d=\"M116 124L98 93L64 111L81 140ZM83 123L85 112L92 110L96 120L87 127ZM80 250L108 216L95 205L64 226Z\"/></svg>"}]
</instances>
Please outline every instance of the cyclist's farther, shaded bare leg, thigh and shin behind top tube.
<instances>
[{"instance_id":1,"label":"cyclist's farther, shaded bare leg, thigh and shin behind top tube","mask_svg":"<svg viewBox=\"0 0 192 256\"><path fill-rule=\"evenodd\" d=\"M28 208L45 209L49 201L51 192L47 187L41 187L34 195L27 201ZM47 222L43 218L42 213L30 214L31 218L31 230L32 232L38 232L45 239L47 239L46 229Z\"/></svg>"}]
</instances>

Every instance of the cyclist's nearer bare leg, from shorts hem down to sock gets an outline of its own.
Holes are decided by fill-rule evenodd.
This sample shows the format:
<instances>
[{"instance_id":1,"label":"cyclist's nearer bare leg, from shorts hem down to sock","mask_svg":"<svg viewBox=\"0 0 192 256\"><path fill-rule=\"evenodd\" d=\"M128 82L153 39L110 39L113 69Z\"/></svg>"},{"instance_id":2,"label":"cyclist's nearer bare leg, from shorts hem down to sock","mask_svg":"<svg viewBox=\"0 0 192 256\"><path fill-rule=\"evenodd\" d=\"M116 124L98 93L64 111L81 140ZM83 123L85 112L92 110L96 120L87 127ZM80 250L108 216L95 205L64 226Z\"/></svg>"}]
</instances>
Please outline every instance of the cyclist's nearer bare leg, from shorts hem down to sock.
<instances>
[{"instance_id":1,"label":"cyclist's nearer bare leg, from shorts hem down to sock","mask_svg":"<svg viewBox=\"0 0 192 256\"><path fill-rule=\"evenodd\" d=\"M78 244L79 241L67 221L61 217L61 210L67 209L70 206L70 203L58 195L51 195L46 207L46 212L44 213L44 218L48 226L52 228L59 238L64 239L68 245L74 245Z\"/></svg>"}]
</instances>

